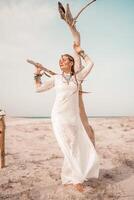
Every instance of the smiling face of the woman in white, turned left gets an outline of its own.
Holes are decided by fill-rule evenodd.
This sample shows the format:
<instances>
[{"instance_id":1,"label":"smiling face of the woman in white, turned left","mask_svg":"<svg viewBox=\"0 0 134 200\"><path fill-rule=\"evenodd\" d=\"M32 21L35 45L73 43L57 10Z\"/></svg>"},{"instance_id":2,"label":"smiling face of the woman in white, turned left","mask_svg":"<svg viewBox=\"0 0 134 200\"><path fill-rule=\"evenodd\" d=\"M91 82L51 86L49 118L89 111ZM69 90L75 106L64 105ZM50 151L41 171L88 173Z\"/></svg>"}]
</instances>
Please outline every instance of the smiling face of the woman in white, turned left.
<instances>
[{"instance_id":1,"label":"smiling face of the woman in white, turned left","mask_svg":"<svg viewBox=\"0 0 134 200\"><path fill-rule=\"evenodd\" d=\"M62 71L71 71L73 62L69 60L68 56L62 55L59 60L59 65Z\"/></svg>"}]
</instances>

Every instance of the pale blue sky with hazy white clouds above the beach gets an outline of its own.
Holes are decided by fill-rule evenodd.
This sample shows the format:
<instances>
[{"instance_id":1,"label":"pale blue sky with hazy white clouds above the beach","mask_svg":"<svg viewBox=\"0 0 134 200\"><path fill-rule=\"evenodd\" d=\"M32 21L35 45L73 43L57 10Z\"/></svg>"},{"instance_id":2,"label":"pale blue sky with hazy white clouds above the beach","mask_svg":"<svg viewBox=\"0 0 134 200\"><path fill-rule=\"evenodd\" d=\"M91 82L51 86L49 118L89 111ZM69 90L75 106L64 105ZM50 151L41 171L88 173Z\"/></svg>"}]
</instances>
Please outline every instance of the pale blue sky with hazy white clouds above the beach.
<instances>
[{"instance_id":1,"label":"pale blue sky with hazy white clouds above the beach","mask_svg":"<svg viewBox=\"0 0 134 200\"><path fill-rule=\"evenodd\" d=\"M75 16L88 0L62 0ZM32 59L57 73L73 55L56 0L0 0L0 109L8 116L50 117L55 90L36 93ZM81 47L94 67L83 83L88 116L134 116L134 1L97 0L79 16ZM45 82L47 78L43 78Z\"/></svg>"}]
</instances>

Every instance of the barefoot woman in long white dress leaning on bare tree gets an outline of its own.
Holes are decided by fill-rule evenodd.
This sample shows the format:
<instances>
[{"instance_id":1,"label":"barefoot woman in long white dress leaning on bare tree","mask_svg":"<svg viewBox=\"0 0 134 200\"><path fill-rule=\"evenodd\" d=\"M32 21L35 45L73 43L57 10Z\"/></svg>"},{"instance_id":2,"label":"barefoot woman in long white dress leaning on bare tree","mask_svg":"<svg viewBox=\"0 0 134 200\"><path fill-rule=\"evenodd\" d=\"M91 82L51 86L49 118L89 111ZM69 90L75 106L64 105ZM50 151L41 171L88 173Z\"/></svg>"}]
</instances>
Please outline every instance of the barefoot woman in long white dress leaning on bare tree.
<instances>
[{"instance_id":1,"label":"barefoot woman in long white dress leaning on bare tree","mask_svg":"<svg viewBox=\"0 0 134 200\"><path fill-rule=\"evenodd\" d=\"M75 72L73 57L64 54L59 60L62 73L52 75L42 84L39 64L36 68L35 83L36 92L55 87L56 99L51 120L55 137L64 154L62 184L71 184L82 192L85 180L99 176L99 157L81 122L78 98L80 85L94 64L80 46L74 44L74 50L83 58L86 67Z\"/></svg>"}]
</instances>

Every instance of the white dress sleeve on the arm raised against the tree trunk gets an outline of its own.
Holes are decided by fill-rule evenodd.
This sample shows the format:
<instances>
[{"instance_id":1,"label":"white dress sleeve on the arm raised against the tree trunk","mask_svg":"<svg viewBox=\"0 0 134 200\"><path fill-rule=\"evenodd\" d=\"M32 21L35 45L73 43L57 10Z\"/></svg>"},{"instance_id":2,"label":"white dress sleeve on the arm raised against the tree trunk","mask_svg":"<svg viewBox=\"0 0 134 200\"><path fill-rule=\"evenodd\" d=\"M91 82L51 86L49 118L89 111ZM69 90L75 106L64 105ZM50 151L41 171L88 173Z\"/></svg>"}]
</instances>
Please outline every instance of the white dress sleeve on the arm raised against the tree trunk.
<instances>
[{"instance_id":1,"label":"white dress sleeve on the arm raised against the tree trunk","mask_svg":"<svg viewBox=\"0 0 134 200\"><path fill-rule=\"evenodd\" d=\"M87 75L91 71L92 67L94 66L94 63L91 61L91 59L87 55L84 60L87 64L87 66L82 68L82 70L80 70L76 75L78 80L81 80L81 81L87 77Z\"/></svg>"}]
</instances>

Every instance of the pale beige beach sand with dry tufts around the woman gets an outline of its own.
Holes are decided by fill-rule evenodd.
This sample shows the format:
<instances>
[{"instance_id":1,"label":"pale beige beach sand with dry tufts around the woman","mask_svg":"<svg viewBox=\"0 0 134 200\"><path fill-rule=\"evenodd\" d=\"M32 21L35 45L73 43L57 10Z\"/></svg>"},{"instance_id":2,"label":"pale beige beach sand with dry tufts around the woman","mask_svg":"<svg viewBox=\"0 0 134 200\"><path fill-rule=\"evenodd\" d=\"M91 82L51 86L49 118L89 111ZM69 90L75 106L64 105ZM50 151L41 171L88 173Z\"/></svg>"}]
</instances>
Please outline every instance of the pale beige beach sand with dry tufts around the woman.
<instances>
[{"instance_id":1,"label":"pale beige beach sand with dry tufts around the woman","mask_svg":"<svg viewBox=\"0 0 134 200\"><path fill-rule=\"evenodd\" d=\"M89 118L100 175L84 183L83 193L61 184L63 154L51 119L6 117L5 121L0 200L134 200L134 117Z\"/></svg>"}]
</instances>

